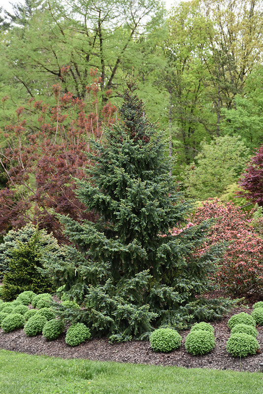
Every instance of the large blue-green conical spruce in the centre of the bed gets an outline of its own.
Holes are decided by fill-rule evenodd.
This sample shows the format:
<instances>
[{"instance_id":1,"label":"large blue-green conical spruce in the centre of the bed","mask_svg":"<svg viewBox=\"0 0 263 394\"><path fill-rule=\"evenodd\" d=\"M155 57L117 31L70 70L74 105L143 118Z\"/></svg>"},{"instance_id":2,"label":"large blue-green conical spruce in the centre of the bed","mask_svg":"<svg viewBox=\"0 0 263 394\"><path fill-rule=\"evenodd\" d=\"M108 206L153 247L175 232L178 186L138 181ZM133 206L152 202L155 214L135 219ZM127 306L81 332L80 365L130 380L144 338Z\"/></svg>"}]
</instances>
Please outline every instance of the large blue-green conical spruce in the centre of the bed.
<instances>
[{"instance_id":1,"label":"large blue-green conical spruce in the centre of the bed","mask_svg":"<svg viewBox=\"0 0 263 394\"><path fill-rule=\"evenodd\" d=\"M190 314L211 318L224 310L218 300L208 308L197 300L210 289L216 259L211 251L195 254L207 224L182 230L189 207L169 176L156 126L144 116L134 83L127 85L122 121L105 131L105 145L93 143L89 181L76 180L78 197L99 220L62 216L77 247L65 248L64 262L47 264L85 306L72 311L72 320L111 340L143 337L153 326L184 327ZM174 227L181 230L171 233Z\"/></svg>"}]
</instances>

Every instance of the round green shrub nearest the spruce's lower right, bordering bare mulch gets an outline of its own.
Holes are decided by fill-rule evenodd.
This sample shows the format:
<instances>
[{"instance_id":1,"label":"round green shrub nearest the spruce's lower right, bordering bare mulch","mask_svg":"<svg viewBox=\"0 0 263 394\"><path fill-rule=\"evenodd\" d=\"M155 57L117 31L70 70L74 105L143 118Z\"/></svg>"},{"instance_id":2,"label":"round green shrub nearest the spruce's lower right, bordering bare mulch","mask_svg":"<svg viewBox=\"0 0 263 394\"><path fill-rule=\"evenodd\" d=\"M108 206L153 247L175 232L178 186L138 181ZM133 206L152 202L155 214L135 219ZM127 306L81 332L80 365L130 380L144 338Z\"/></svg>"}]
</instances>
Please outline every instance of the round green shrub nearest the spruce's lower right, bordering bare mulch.
<instances>
[{"instance_id":1,"label":"round green shrub nearest the spruce's lower right, bordering bare mulch","mask_svg":"<svg viewBox=\"0 0 263 394\"><path fill-rule=\"evenodd\" d=\"M155 352L170 352L181 345L181 335L172 328L157 328L150 335L150 345Z\"/></svg>"}]
</instances>

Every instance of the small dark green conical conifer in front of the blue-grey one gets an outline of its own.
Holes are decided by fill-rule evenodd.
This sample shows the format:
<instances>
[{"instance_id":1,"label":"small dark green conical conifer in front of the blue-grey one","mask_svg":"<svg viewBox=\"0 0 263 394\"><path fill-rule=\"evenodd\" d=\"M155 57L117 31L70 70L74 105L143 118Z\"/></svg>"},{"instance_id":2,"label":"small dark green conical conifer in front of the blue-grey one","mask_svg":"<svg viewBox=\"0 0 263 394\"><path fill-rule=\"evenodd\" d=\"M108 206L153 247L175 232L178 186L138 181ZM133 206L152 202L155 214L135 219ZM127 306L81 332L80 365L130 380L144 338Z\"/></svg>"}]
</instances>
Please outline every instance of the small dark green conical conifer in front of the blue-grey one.
<instances>
[{"instance_id":1,"label":"small dark green conical conifer in front of the blue-grey one","mask_svg":"<svg viewBox=\"0 0 263 394\"><path fill-rule=\"evenodd\" d=\"M12 300L23 291L42 293L53 290L51 279L44 277L38 269L42 267L41 231L36 230L26 243L17 242L9 252L8 271L4 273L1 288L4 300Z\"/></svg>"}]
</instances>

